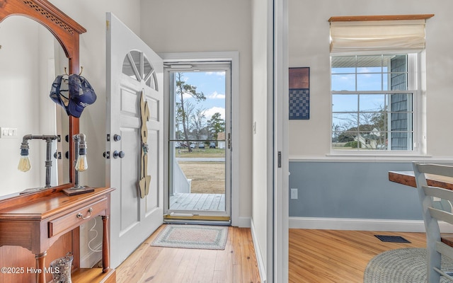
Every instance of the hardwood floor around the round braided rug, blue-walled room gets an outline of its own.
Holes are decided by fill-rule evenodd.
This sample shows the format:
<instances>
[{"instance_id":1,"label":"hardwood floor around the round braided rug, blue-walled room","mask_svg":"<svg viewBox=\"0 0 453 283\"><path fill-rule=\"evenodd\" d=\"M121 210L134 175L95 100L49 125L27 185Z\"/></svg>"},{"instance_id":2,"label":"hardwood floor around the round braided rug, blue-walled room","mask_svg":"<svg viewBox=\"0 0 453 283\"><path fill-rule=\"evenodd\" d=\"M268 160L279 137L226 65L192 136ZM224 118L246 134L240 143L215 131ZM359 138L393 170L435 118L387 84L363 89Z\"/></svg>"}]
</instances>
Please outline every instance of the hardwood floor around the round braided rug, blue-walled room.
<instances>
[{"instance_id":1,"label":"hardwood floor around the round braided rug, blue-walled room","mask_svg":"<svg viewBox=\"0 0 453 283\"><path fill-rule=\"evenodd\" d=\"M411 243L384 243L374 235ZM396 248L425 248L425 233L289 229L290 283L362 283L375 255Z\"/></svg>"}]
</instances>

